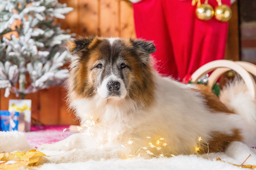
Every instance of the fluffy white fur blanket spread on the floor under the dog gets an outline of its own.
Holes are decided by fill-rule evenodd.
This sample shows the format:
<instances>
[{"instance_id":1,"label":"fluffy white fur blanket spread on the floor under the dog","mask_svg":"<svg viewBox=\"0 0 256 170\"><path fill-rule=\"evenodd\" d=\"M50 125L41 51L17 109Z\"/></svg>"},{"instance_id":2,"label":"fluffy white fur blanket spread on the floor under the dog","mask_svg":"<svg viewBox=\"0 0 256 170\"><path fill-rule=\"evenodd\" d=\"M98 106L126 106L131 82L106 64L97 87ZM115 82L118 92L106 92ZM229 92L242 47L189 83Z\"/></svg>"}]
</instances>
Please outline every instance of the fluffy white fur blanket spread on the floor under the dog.
<instances>
[{"instance_id":1,"label":"fluffy white fur blanket spread on the floor under the dog","mask_svg":"<svg viewBox=\"0 0 256 170\"><path fill-rule=\"evenodd\" d=\"M30 149L24 133L0 132L0 152ZM60 154L61 151L42 151L46 155ZM179 155L173 158L104 160L95 162L89 160L81 163L44 164L35 169L241 169L229 163L256 165L256 149L247 147L241 142L233 142L225 153L208 155ZM82 156L82 155L77 155ZM225 162L217 161L220 158Z\"/></svg>"}]
</instances>

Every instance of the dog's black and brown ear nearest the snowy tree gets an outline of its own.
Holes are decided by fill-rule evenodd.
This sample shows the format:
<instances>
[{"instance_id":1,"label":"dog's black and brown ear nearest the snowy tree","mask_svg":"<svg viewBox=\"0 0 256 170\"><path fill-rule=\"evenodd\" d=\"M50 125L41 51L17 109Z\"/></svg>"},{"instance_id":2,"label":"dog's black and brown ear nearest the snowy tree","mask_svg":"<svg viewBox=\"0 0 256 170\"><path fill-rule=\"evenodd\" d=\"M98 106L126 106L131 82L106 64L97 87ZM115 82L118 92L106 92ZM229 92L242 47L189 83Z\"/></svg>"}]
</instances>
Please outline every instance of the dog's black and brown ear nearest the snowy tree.
<instances>
[{"instance_id":1,"label":"dog's black and brown ear nearest the snowy tree","mask_svg":"<svg viewBox=\"0 0 256 170\"><path fill-rule=\"evenodd\" d=\"M74 41L68 40L69 52L73 55L81 50L88 50L92 44L96 44L97 40L96 36L83 37Z\"/></svg>"}]
</instances>

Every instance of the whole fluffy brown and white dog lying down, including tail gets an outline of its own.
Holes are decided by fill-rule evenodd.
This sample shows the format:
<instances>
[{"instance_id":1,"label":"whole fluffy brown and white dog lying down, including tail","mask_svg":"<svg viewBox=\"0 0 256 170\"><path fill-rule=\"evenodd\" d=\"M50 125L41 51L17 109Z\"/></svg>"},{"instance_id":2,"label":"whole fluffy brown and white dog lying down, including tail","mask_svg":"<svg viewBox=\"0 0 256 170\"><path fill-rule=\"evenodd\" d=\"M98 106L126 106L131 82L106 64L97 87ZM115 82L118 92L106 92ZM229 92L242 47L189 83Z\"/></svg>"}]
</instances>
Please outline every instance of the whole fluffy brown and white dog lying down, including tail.
<instances>
[{"instance_id":1,"label":"whole fluffy brown and white dog lying down, including tail","mask_svg":"<svg viewBox=\"0 0 256 170\"><path fill-rule=\"evenodd\" d=\"M89 132L39 147L69 150L47 161L221 152L253 142L255 103L242 82L224 88L221 102L203 85L164 78L152 69L150 41L86 37L69 50L69 103Z\"/></svg>"}]
</instances>

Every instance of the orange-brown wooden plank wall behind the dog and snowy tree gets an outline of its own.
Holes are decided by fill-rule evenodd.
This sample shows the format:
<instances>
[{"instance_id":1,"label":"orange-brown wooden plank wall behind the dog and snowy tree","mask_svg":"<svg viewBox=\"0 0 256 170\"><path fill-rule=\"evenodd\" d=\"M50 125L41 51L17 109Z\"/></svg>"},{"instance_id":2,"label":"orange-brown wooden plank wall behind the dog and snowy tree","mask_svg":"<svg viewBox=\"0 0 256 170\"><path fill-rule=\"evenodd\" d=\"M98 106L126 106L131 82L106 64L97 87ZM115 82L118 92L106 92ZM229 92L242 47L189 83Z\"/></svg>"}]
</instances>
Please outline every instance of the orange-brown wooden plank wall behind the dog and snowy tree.
<instances>
[{"instance_id":1,"label":"orange-brown wooden plank wall behind the dog and snowy tree","mask_svg":"<svg viewBox=\"0 0 256 170\"><path fill-rule=\"evenodd\" d=\"M66 19L57 20L61 28L70 29L77 36L98 35L105 37L135 38L133 8L129 3L117 0L59 0L73 7ZM46 125L78 124L75 116L68 111L65 103L67 91L63 87L52 87L30 94L25 99L32 100L32 117ZM7 110L9 99L0 91L0 109Z\"/></svg>"}]
</instances>

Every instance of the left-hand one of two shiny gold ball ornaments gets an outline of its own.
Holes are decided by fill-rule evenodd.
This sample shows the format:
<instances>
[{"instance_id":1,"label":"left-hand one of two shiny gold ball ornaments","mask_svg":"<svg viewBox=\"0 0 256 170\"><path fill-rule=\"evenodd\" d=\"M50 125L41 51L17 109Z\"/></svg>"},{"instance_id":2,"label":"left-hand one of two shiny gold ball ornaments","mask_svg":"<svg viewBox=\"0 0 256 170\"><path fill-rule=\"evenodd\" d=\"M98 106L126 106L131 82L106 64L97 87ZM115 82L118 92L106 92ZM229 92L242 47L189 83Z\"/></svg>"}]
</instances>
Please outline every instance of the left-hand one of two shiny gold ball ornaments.
<instances>
[{"instance_id":1,"label":"left-hand one of two shiny gold ball ornaments","mask_svg":"<svg viewBox=\"0 0 256 170\"><path fill-rule=\"evenodd\" d=\"M214 10L209 4L203 3L196 8L196 16L200 20L209 20L213 17Z\"/></svg>"}]
</instances>

